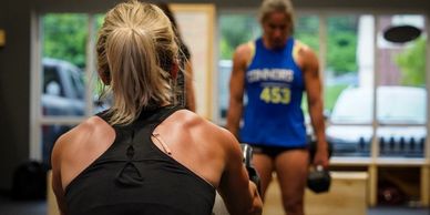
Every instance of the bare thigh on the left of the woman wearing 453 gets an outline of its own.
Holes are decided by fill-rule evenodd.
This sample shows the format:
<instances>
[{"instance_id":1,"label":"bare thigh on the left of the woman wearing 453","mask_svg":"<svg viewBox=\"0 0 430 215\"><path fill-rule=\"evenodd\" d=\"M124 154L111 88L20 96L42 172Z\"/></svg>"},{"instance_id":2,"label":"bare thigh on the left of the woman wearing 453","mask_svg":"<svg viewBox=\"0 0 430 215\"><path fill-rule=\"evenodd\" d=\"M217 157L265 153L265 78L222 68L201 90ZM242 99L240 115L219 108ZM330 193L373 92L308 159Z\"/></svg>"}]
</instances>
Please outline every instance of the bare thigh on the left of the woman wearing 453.
<instances>
[{"instance_id":1,"label":"bare thigh on the left of the woman wearing 453","mask_svg":"<svg viewBox=\"0 0 430 215\"><path fill-rule=\"evenodd\" d=\"M257 171L259 177L260 177L260 186L262 186L262 199L264 201L267 187L272 181L272 173L274 171L274 162L273 160L260 153L255 153L253 155L253 165L255 166L255 170Z\"/></svg>"}]
</instances>

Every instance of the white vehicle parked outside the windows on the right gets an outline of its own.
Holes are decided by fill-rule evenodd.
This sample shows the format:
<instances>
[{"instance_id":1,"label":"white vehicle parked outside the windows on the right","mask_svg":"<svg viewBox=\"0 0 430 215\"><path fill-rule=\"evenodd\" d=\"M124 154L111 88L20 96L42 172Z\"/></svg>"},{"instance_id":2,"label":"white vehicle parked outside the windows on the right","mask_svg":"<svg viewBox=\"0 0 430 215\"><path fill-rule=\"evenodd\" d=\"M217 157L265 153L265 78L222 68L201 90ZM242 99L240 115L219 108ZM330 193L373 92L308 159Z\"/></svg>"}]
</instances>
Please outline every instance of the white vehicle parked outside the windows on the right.
<instances>
[{"instance_id":1,"label":"white vehicle parked outside the windows on the right","mask_svg":"<svg viewBox=\"0 0 430 215\"><path fill-rule=\"evenodd\" d=\"M326 130L335 156L370 156L372 96L367 88L347 88L339 95ZM423 157L426 105L423 88L378 86L375 136L380 156Z\"/></svg>"}]
</instances>

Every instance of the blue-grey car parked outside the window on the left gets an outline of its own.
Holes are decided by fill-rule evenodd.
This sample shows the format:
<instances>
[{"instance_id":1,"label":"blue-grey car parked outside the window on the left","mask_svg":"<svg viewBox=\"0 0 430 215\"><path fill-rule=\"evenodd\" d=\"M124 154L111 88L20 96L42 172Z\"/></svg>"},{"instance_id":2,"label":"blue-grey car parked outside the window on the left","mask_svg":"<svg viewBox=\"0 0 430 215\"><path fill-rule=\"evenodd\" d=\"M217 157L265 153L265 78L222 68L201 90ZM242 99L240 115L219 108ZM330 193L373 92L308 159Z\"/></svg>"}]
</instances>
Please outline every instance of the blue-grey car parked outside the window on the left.
<instances>
[{"instance_id":1,"label":"blue-grey car parked outside the window on the left","mask_svg":"<svg viewBox=\"0 0 430 215\"><path fill-rule=\"evenodd\" d=\"M84 72L74 64L60 60L44 58L42 60L43 81L41 109L43 116L84 116L85 115L85 82ZM109 108L105 102L94 96L94 113ZM57 139L72 129L66 124L42 125L42 157L50 163L50 154Z\"/></svg>"}]
</instances>

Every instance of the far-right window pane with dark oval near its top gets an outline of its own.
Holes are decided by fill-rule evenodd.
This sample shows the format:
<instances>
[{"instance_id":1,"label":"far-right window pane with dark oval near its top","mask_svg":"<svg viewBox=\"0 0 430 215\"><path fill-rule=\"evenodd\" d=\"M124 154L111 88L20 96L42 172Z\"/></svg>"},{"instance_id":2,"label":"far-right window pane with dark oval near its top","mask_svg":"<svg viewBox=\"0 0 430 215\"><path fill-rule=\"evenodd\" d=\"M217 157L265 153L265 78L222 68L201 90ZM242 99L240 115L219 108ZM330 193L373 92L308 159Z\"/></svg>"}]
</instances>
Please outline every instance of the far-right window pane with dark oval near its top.
<instances>
[{"instance_id":1,"label":"far-right window pane with dark oval near its top","mask_svg":"<svg viewBox=\"0 0 430 215\"><path fill-rule=\"evenodd\" d=\"M413 40L399 42L389 38L392 29L405 25L426 32L424 22L424 17L417 14L382 16L378 19L377 121L381 126L377 134L380 156L424 155L427 35L410 34L403 29L399 34Z\"/></svg>"}]
</instances>

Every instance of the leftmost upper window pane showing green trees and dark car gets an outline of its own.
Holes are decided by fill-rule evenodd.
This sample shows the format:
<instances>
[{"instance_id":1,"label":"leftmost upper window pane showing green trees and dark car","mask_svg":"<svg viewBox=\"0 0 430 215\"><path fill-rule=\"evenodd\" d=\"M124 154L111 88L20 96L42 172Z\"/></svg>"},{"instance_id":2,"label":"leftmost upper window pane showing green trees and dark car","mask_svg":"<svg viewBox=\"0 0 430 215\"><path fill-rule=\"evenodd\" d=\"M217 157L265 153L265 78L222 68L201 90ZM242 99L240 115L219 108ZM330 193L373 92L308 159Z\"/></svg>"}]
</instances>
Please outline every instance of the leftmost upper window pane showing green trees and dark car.
<instances>
[{"instance_id":1,"label":"leftmost upper window pane showing green trees and dark car","mask_svg":"<svg viewBox=\"0 0 430 215\"><path fill-rule=\"evenodd\" d=\"M84 115L88 16L44 14L42 34L42 114Z\"/></svg>"}]
</instances>

